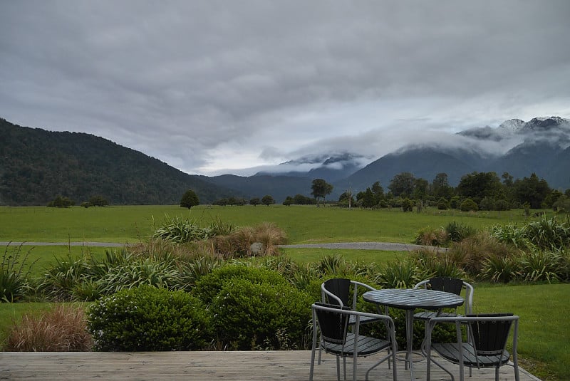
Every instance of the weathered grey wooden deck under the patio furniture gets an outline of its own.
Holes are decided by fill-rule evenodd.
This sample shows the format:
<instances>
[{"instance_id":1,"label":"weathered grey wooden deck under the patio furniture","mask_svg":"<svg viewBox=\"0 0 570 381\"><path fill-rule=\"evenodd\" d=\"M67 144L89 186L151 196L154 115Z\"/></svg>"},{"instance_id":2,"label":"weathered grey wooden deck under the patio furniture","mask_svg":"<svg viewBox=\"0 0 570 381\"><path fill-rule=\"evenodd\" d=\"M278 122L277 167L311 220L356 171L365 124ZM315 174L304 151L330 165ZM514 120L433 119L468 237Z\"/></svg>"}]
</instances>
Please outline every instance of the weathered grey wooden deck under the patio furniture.
<instances>
[{"instance_id":1,"label":"weathered grey wooden deck under the patio furniture","mask_svg":"<svg viewBox=\"0 0 570 381\"><path fill-rule=\"evenodd\" d=\"M358 380L379 355L359 360ZM0 380L308 380L311 351L257 352L0 352ZM352 380L351 360L347 377ZM425 380L425 360L416 362L414 380ZM459 367L445 362L455 372ZM494 370L473 370L469 381L494 380ZM537 377L520 369L521 381ZM342 379L342 376L341 376ZM449 375L432 366L432 380L450 380ZM336 360L323 354L315 364L315 381L336 380ZM371 380L392 380L392 371L383 363L371 372ZM398 380L410 380L410 371L398 362ZM503 366L500 380L514 380L511 366Z\"/></svg>"}]
</instances>

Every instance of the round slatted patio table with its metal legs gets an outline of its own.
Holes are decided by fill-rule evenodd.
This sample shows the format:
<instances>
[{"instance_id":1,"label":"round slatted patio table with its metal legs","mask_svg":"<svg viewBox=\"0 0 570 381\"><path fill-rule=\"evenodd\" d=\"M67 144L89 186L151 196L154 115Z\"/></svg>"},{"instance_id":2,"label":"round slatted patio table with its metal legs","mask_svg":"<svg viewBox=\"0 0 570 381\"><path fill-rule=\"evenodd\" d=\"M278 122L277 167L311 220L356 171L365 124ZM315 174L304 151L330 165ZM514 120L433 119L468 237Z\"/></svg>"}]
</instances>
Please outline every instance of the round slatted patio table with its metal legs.
<instances>
[{"instance_id":1,"label":"round slatted patio table with its metal legs","mask_svg":"<svg viewBox=\"0 0 570 381\"><path fill-rule=\"evenodd\" d=\"M405 336L406 365L410 365L410 375L413 380L413 322L414 310L424 308L426 310L437 310L442 308L455 308L464 303L461 296L445 291L436 291L426 288L385 288L382 290L367 291L363 294L363 299L378 306L386 306L405 310ZM395 365L394 365L395 366Z\"/></svg>"}]
</instances>

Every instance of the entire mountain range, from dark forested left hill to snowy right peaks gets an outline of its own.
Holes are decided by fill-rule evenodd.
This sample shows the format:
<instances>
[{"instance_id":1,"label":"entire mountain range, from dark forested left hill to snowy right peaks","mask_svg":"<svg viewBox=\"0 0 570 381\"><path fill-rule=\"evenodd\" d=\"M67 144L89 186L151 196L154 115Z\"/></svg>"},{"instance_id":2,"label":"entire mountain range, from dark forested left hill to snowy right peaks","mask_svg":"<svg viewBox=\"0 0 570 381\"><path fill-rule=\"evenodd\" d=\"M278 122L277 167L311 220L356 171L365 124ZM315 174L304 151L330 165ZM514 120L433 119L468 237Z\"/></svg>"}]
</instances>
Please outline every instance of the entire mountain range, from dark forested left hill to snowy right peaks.
<instances>
[{"instance_id":1,"label":"entire mountain range, from dark forested left hill to snowy right peaks","mask_svg":"<svg viewBox=\"0 0 570 381\"><path fill-rule=\"evenodd\" d=\"M127 147L78 132L48 132L0 119L0 204L46 204L58 194L76 202L102 195L111 204L177 204L186 189L200 202L222 197L310 196L313 179L333 184L328 199L380 182L388 187L401 172L429 182L441 172L451 185L464 174L509 172L515 179L532 172L553 188L570 188L570 121L559 117L529 122L507 120L477 127L445 142L409 145L373 162L357 152L301 157L275 170L242 177L185 174Z\"/></svg>"}]
</instances>

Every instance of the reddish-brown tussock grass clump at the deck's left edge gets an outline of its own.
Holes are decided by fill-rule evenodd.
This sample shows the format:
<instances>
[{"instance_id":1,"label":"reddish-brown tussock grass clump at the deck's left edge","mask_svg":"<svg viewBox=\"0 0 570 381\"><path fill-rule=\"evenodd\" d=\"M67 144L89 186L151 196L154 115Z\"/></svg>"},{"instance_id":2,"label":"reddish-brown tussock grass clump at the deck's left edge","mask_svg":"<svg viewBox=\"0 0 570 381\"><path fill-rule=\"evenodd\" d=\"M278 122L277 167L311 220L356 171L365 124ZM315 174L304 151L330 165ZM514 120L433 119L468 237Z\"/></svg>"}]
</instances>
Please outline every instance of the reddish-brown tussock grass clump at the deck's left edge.
<instances>
[{"instance_id":1,"label":"reddish-brown tussock grass clump at the deck's left edge","mask_svg":"<svg viewBox=\"0 0 570 381\"><path fill-rule=\"evenodd\" d=\"M86 352L93 347L81 306L59 304L42 314L28 313L14 323L4 350L11 352Z\"/></svg>"}]
</instances>

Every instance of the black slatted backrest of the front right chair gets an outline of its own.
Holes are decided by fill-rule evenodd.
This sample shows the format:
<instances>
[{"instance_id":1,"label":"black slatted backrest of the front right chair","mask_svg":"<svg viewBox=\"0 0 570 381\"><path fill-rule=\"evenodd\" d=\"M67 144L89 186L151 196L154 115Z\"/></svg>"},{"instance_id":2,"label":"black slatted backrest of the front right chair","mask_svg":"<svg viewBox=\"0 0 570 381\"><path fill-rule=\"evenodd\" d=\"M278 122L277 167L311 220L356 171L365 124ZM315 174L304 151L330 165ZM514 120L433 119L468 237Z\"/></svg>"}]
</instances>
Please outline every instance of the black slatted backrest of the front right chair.
<instances>
[{"instance_id":1,"label":"black slatted backrest of the front right chair","mask_svg":"<svg viewBox=\"0 0 570 381\"><path fill-rule=\"evenodd\" d=\"M477 318L501 318L512 316L512 313L480 313L467 315ZM477 355L501 355L507 345L509 331L513 320L481 320L470 321L470 334Z\"/></svg>"}]
</instances>

